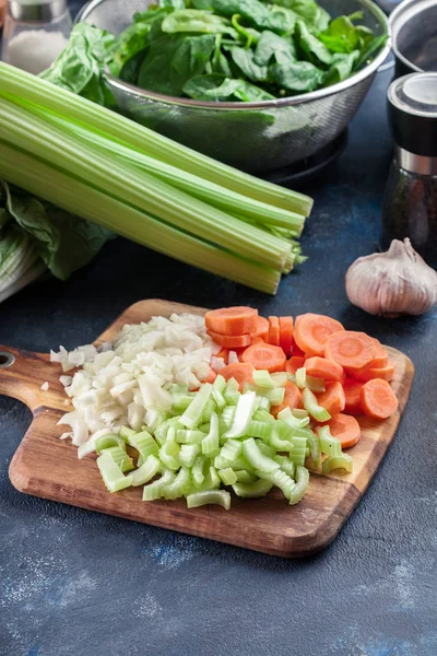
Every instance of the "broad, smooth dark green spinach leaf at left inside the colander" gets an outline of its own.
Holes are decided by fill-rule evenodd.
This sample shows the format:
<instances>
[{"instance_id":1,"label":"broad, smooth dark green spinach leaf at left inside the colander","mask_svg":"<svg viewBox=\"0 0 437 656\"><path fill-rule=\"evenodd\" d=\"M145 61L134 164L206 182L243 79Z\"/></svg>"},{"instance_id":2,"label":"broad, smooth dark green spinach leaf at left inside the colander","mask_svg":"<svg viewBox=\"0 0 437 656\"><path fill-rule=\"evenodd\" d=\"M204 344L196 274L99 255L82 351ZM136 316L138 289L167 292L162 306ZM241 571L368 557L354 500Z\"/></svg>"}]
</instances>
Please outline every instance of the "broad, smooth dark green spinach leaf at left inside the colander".
<instances>
[{"instance_id":1,"label":"broad, smooth dark green spinach leaf at left inside the colander","mask_svg":"<svg viewBox=\"0 0 437 656\"><path fill-rule=\"evenodd\" d=\"M215 48L215 36L170 34L152 42L141 65L138 85L179 96L184 84L204 72Z\"/></svg>"}]
</instances>

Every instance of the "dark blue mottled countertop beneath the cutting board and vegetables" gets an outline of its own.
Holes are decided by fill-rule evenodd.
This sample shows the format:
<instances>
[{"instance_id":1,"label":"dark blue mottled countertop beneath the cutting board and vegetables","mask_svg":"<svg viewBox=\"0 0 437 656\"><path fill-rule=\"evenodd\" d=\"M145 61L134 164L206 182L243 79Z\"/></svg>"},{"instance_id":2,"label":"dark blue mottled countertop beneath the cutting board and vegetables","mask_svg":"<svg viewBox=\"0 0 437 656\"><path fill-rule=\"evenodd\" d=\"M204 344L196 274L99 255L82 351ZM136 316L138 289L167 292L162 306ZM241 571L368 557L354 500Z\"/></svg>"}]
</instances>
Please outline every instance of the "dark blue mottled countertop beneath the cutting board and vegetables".
<instances>
[{"instance_id":1,"label":"dark blue mottled countertop beneath the cutting board and vegetables","mask_svg":"<svg viewBox=\"0 0 437 656\"><path fill-rule=\"evenodd\" d=\"M16 492L9 462L29 411L0 397L1 656L436 656L437 313L381 319L352 307L344 274L378 248L391 159L380 73L316 199L309 260L275 297L123 239L67 282L0 308L0 343L88 343L128 305L162 297L327 313L404 351L416 376L398 434L334 542L287 561Z\"/></svg>"}]
</instances>

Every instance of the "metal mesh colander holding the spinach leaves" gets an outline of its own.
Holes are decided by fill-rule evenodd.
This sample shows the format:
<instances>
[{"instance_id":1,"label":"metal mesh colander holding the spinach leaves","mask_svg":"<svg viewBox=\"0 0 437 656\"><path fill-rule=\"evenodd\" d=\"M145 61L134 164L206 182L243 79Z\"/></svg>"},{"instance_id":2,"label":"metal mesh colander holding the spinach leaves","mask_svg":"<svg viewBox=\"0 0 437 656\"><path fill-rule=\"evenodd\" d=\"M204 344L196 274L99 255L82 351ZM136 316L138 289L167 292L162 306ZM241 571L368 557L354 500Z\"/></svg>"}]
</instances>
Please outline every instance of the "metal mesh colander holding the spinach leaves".
<instances>
[{"instance_id":1,"label":"metal mesh colander holding the spinach leaves","mask_svg":"<svg viewBox=\"0 0 437 656\"><path fill-rule=\"evenodd\" d=\"M86 21L119 34L153 0L92 0L76 22ZM387 34L382 11L370 0L322 0L332 15L364 12L362 23ZM212 103L143 91L114 78L107 81L119 109L131 119L216 160L250 172L267 172L312 155L346 128L359 107L387 44L349 80L327 89L277 101Z\"/></svg>"}]
</instances>

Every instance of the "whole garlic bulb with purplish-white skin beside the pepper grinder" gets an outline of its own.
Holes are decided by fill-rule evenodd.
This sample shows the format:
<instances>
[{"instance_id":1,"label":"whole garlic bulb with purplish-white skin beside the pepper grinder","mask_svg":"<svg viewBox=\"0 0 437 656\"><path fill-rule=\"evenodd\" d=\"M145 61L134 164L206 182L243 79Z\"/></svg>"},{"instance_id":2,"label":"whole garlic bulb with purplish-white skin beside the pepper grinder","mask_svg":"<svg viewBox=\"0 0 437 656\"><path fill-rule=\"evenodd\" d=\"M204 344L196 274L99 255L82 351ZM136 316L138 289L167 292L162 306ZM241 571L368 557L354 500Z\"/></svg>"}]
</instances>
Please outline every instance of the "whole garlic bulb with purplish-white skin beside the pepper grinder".
<instances>
[{"instance_id":1,"label":"whole garlic bulb with purplish-white skin beside the pepper grinder","mask_svg":"<svg viewBox=\"0 0 437 656\"><path fill-rule=\"evenodd\" d=\"M414 250L410 239L393 239L387 253L375 253L351 265L347 297L369 314L420 315L437 303L437 272Z\"/></svg>"}]
</instances>

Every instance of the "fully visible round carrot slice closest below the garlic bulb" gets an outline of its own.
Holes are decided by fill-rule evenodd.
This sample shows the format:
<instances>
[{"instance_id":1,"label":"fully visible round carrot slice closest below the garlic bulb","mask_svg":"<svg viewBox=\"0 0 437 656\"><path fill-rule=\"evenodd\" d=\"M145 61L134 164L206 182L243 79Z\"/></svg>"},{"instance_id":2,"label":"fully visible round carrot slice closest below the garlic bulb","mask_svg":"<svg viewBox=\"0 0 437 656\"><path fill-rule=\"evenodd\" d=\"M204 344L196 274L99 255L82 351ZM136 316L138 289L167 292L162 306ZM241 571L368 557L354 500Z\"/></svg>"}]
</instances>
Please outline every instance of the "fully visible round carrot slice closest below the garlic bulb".
<instances>
[{"instance_id":1,"label":"fully visible round carrot slice closest below the garlic bulb","mask_svg":"<svg viewBox=\"0 0 437 656\"><path fill-rule=\"evenodd\" d=\"M346 373L370 364L375 353L376 348L371 337L354 330L334 332L324 344L324 358L341 364Z\"/></svg>"}]
</instances>

